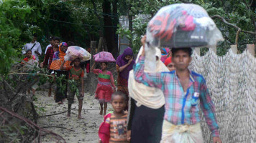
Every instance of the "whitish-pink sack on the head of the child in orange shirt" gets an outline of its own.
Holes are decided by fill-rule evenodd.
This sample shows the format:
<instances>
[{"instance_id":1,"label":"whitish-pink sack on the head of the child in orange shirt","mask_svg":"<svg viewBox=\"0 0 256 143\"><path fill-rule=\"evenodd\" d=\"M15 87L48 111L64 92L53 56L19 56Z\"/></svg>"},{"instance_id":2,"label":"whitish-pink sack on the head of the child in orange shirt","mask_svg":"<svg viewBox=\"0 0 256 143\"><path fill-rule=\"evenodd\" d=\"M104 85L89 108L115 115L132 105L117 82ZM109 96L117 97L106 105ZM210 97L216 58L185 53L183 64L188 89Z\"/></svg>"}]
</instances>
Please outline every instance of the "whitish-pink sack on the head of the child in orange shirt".
<instances>
[{"instance_id":1,"label":"whitish-pink sack on the head of the child in orange shirt","mask_svg":"<svg viewBox=\"0 0 256 143\"><path fill-rule=\"evenodd\" d=\"M68 46L64 56L65 61L73 61L76 58L81 59L81 62L88 61L91 59L91 54L80 46Z\"/></svg>"}]
</instances>

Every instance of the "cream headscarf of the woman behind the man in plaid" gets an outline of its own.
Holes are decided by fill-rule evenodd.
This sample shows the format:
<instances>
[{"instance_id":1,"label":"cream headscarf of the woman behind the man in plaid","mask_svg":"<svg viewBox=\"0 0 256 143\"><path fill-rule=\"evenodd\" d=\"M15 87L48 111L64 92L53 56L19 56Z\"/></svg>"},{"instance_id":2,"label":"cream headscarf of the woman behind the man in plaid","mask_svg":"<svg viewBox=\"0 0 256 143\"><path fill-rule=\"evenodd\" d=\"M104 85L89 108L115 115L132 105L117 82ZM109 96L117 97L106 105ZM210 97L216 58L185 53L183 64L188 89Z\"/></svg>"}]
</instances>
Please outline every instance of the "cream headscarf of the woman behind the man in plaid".
<instances>
[{"instance_id":1,"label":"cream headscarf of the woman behind the man in plaid","mask_svg":"<svg viewBox=\"0 0 256 143\"><path fill-rule=\"evenodd\" d=\"M142 54L143 47L140 48L139 54L137 56L136 62L138 61L140 55ZM162 72L169 71L168 68L160 61L161 51L158 48L155 48L156 53L155 56L158 56L158 60L156 61L156 69L155 71L150 71L149 67L145 66L145 72ZM129 96L132 97L137 102L137 107L140 105L144 105L145 107L149 107L152 109L159 109L163 107L165 104L165 97L161 89L157 89L155 87L147 87L145 84L136 82L134 79L133 70L129 72L128 79L128 89Z\"/></svg>"}]
</instances>

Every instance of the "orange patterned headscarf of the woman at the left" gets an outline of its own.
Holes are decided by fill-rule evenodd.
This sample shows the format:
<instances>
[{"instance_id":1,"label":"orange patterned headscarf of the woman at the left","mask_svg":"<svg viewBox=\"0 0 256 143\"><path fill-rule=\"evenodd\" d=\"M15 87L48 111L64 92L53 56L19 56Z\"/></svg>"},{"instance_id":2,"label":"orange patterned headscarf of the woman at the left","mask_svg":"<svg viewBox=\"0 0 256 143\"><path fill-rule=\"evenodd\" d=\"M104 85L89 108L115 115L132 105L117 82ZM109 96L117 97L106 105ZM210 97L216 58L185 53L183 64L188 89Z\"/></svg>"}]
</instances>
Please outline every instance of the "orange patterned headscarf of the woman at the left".
<instances>
[{"instance_id":1,"label":"orange patterned headscarf of the woman at the left","mask_svg":"<svg viewBox=\"0 0 256 143\"><path fill-rule=\"evenodd\" d=\"M68 46L68 44L66 42L60 43L60 46L63 46L63 45ZM59 46L59 51L55 51L55 53L53 55L52 64L50 65L50 69L60 70L60 65L64 61L65 52L60 50L60 46ZM70 66L70 63L71 63L71 61L66 61L64 64L64 67Z\"/></svg>"}]
</instances>

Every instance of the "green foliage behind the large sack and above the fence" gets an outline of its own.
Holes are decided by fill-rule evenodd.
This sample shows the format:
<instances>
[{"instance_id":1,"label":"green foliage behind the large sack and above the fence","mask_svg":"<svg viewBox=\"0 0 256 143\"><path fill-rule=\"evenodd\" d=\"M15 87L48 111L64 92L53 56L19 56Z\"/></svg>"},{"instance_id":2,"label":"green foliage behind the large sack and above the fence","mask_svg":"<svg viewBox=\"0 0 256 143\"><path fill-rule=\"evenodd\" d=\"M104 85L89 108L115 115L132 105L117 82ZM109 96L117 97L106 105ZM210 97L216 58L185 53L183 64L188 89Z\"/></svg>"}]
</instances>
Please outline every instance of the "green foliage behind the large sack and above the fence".
<instances>
[{"instance_id":1,"label":"green foliage behind the large sack and above the fence","mask_svg":"<svg viewBox=\"0 0 256 143\"><path fill-rule=\"evenodd\" d=\"M122 27L119 27L120 35L125 35L127 38L132 41L132 47L137 51L140 49L140 39L141 35L145 34L147 21L143 21L142 19L138 19L137 14L150 14L151 18L156 14L156 12L163 6L169 4L177 4L181 2L185 3L193 3L198 4L209 13L209 16L220 15L224 17L229 23L235 24L239 26L242 30L245 31L255 31L255 24L253 24L253 17L256 19L256 13L252 10L252 6L249 5L250 0L244 1L239 0L187 0L187 1L178 1L178 0L127 0L127 6L130 10L126 10L130 15L134 16L135 19L132 20L132 31L124 30ZM232 26L228 26L224 24L220 19L214 19L216 25L221 30L225 41L220 42L218 44L217 54L224 55L227 50L230 48L231 44L235 43L235 37L237 33L237 29ZM129 21L131 22L131 21ZM132 35L132 38L130 38ZM245 48L245 44L253 44L255 43L255 35L240 33L239 41L238 41L238 50L242 52ZM207 50L201 50L202 54L205 54Z\"/></svg>"}]
</instances>

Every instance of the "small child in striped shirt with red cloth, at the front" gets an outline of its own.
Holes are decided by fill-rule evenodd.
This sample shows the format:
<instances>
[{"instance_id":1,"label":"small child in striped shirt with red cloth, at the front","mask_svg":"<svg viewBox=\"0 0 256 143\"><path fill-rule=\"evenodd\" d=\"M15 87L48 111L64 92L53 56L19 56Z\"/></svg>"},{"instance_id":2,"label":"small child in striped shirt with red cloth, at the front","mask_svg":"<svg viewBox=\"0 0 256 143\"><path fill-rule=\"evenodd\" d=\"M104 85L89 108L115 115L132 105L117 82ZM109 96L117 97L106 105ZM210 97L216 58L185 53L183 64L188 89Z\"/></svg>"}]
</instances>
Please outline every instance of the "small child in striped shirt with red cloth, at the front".
<instances>
[{"instance_id":1,"label":"small child in striped shirt with red cloth, at the front","mask_svg":"<svg viewBox=\"0 0 256 143\"><path fill-rule=\"evenodd\" d=\"M126 143L127 114L124 113L127 97L123 92L114 92L111 97L111 105L114 112L104 116L104 122L99 127L99 143Z\"/></svg>"}]
</instances>

